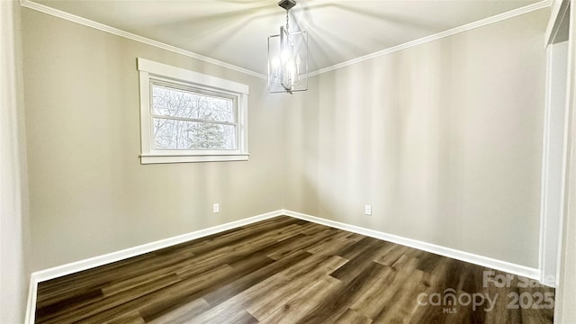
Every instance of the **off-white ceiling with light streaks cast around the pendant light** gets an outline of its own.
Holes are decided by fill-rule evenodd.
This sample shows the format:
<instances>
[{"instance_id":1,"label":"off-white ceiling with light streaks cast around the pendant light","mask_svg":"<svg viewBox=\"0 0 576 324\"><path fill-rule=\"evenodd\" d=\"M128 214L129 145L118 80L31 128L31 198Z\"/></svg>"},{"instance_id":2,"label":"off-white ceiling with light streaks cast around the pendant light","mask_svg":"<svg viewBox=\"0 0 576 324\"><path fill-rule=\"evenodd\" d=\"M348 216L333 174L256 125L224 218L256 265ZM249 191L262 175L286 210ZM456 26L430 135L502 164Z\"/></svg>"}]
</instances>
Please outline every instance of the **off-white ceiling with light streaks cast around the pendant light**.
<instances>
[{"instance_id":1,"label":"off-white ceiling with light streaks cast around the pendant light","mask_svg":"<svg viewBox=\"0 0 576 324\"><path fill-rule=\"evenodd\" d=\"M276 0L34 0L69 14L266 74L267 37L285 23ZM537 0L298 0L291 30L309 32L315 71Z\"/></svg>"}]
</instances>

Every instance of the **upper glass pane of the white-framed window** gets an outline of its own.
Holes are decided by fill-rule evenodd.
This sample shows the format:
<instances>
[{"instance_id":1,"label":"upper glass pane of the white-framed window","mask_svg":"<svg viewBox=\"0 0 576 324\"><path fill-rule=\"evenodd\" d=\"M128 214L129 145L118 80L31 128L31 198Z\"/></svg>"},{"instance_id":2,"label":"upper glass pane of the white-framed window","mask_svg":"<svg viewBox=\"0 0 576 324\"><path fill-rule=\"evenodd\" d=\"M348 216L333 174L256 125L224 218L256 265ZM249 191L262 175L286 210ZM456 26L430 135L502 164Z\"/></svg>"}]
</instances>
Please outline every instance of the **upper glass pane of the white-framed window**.
<instances>
[{"instance_id":1,"label":"upper glass pane of the white-framed window","mask_svg":"<svg viewBox=\"0 0 576 324\"><path fill-rule=\"evenodd\" d=\"M152 113L204 121L235 122L232 99L165 85L152 85Z\"/></svg>"}]
</instances>

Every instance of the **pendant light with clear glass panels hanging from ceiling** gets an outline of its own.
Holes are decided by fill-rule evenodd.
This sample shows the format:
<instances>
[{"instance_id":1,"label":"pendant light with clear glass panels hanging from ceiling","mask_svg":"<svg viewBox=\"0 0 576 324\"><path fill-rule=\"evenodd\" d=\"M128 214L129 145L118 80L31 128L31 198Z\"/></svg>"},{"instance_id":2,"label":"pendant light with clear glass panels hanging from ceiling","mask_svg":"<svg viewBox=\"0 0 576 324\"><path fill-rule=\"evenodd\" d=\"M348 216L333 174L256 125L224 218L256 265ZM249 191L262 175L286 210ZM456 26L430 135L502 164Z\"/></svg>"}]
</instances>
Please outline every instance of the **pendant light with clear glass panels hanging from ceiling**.
<instances>
[{"instance_id":1,"label":"pendant light with clear glass panels hanging from ceiling","mask_svg":"<svg viewBox=\"0 0 576 324\"><path fill-rule=\"evenodd\" d=\"M281 0L286 10L286 26L280 34L268 37L268 91L289 93L308 90L308 32L289 31L288 13L295 0Z\"/></svg>"}]
</instances>

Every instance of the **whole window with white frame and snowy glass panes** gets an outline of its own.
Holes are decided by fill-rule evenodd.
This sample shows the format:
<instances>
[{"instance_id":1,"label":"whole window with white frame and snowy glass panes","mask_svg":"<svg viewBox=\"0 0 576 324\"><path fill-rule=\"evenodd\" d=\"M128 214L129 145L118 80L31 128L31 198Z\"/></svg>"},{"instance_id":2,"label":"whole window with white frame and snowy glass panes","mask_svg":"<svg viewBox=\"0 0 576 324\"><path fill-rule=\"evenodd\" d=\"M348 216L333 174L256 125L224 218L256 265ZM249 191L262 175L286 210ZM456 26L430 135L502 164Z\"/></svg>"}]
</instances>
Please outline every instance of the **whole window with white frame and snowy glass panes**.
<instances>
[{"instance_id":1,"label":"whole window with white frame and snowy glass panes","mask_svg":"<svg viewBox=\"0 0 576 324\"><path fill-rule=\"evenodd\" d=\"M248 86L138 58L141 163L247 160Z\"/></svg>"}]
</instances>

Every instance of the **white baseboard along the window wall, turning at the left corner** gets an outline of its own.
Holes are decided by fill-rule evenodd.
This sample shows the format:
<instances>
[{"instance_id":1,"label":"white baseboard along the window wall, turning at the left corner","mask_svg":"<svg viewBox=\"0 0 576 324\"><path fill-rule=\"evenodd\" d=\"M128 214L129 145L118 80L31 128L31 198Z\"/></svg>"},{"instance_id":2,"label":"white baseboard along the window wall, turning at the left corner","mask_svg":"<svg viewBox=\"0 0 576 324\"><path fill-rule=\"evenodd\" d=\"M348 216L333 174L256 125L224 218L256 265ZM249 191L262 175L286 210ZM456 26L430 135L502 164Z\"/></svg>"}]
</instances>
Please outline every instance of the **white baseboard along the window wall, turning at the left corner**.
<instances>
[{"instance_id":1,"label":"white baseboard along the window wall, turning at the left corner","mask_svg":"<svg viewBox=\"0 0 576 324\"><path fill-rule=\"evenodd\" d=\"M103 266L112 262L127 259L129 257L136 257L148 252L156 251L160 248L175 246L176 244L184 243L196 238L203 238L212 234L220 233L225 230L235 229L240 226L248 225L260 220L267 220L272 217L283 215L284 210L270 211L257 216L249 217L243 220L235 220L229 223L213 226L208 229L200 229L173 238L165 238L156 242L151 242L138 247L130 247L120 251L112 252L98 257L90 257L85 260L72 262L62 266L55 266L49 269L40 270L31 274L30 289L28 295L28 307L26 309L27 324L34 323L36 317L36 294L38 284L50 279L58 278L64 275L74 274L76 272L84 271L96 266Z\"/></svg>"}]
</instances>

